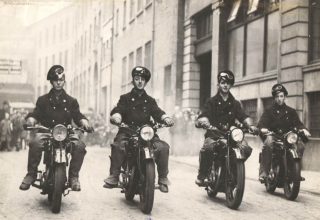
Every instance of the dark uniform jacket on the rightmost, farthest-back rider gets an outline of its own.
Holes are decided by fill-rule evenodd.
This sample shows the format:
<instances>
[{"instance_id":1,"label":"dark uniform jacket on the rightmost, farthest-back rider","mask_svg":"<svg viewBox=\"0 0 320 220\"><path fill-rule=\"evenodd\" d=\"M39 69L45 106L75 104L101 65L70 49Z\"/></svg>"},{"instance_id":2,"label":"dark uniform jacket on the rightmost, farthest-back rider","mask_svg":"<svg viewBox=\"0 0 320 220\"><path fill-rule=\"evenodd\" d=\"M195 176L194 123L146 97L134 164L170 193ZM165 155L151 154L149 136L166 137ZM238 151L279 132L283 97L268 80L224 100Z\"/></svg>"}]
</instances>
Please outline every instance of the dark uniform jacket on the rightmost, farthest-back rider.
<instances>
[{"instance_id":1,"label":"dark uniform jacket on the rightmost, farthest-back rider","mask_svg":"<svg viewBox=\"0 0 320 220\"><path fill-rule=\"evenodd\" d=\"M287 132L290 128L305 128L299 119L297 112L286 104L274 103L261 116L258 123L259 128L267 128L274 132Z\"/></svg>"}]
</instances>

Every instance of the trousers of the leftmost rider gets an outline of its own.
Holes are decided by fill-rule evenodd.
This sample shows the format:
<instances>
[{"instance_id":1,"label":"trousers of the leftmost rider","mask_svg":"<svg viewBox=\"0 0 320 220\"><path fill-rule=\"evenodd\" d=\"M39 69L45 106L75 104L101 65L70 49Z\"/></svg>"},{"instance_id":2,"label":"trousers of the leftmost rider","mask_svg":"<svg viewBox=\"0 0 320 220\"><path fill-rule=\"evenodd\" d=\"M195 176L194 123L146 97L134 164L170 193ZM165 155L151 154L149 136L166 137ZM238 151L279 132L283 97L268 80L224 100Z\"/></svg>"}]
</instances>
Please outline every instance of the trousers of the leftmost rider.
<instances>
[{"instance_id":1,"label":"trousers of the leftmost rider","mask_svg":"<svg viewBox=\"0 0 320 220\"><path fill-rule=\"evenodd\" d=\"M28 175L36 177L38 166L41 161L42 149L44 140L48 134L37 133L35 134L29 143L29 154L28 154ZM71 161L69 167L69 178L79 177L79 171L81 169L84 156L86 154L86 145L79 139L78 136L74 135L72 138Z\"/></svg>"}]
</instances>

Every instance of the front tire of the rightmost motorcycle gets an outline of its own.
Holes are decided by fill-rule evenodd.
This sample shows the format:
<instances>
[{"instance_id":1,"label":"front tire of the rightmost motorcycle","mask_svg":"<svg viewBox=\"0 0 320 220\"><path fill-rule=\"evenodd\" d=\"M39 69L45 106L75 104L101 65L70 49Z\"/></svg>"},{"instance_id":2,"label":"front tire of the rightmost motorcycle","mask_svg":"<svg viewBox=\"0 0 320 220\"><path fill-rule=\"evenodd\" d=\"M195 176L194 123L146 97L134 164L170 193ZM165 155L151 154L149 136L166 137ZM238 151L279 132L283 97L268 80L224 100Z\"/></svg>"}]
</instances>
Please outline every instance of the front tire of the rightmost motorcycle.
<instances>
[{"instance_id":1,"label":"front tire of the rightmost motorcycle","mask_svg":"<svg viewBox=\"0 0 320 220\"><path fill-rule=\"evenodd\" d=\"M284 183L284 194L288 200L295 200L300 191L300 175L301 164L300 161L295 160L289 167L289 178Z\"/></svg>"}]
</instances>

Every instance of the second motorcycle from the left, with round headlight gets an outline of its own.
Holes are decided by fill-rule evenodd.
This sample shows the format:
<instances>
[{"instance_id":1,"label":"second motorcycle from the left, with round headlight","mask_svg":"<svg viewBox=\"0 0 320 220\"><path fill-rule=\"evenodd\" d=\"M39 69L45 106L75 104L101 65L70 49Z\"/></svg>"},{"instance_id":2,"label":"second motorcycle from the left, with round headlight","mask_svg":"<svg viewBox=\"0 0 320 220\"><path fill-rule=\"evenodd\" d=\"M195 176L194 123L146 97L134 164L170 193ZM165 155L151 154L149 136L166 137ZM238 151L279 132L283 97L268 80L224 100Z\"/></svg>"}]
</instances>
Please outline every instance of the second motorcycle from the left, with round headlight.
<instances>
[{"instance_id":1,"label":"second motorcycle from the left, with round headlight","mask_svg":"<svg viewBox=\"0 0 320 220\"><path fill-rule=\"evenodd\" d=\"M143 125L136 129L121 123L120 129L127 129L132 135L126 145L126 159L121 168L118 188L132 201L136 194L140 197L140 209L149 214L153 207L155 186L155 158L152 140L163 124Z\"/></svg>"}]
</instances>

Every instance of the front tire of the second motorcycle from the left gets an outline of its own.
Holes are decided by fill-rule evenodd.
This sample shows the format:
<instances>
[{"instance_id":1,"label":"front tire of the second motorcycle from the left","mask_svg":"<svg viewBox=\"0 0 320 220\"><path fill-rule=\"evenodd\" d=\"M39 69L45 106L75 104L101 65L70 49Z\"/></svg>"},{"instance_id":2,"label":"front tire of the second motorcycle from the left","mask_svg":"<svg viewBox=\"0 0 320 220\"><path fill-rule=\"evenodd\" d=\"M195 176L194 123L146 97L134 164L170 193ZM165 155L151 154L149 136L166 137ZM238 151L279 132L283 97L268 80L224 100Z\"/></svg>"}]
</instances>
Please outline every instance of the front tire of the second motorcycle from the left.
<instances>
[{"instance_id":1,"label":"front tire of the second motorcycle from the left","mask_svg":"<svg viewBox=\"0 0 320 220\"><path fill-rule=\"evenodd\" d=\"M140 209L150 214L154 200L155 165L154 161L145 162L145 177L140 189Z\"/></svg>"}]
</instances>

